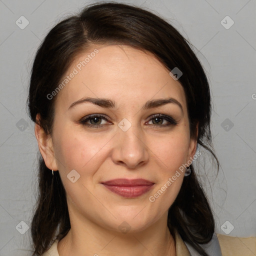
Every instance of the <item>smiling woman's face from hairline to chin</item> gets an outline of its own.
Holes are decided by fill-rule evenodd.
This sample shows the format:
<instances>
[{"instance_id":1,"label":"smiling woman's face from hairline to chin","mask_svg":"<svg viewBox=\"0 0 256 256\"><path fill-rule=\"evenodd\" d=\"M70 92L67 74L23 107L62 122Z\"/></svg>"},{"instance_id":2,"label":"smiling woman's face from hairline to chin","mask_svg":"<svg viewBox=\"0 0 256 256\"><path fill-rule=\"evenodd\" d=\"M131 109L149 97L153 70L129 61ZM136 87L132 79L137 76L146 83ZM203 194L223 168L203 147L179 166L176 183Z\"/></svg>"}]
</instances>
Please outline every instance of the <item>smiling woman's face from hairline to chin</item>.
<instances>
[{"instance_id":1,"label":"smiling woman's face from hairline to chin","mask_svg":"<svg viewBox=\"0 0 256 256\"><path fill-rule=\"evenodd\" d=\"M40 151L47 167L59 171L69 214L112 230L127 225L129 232L166 220L184 176L179 167L196 149L178 80L150 53L124 45L92 47L64 78L68 83L55 95L52 136ZM85 97L98 104L77 102ZM113 179L151 185L103 184Z\"/></svg>"}]
</instances>

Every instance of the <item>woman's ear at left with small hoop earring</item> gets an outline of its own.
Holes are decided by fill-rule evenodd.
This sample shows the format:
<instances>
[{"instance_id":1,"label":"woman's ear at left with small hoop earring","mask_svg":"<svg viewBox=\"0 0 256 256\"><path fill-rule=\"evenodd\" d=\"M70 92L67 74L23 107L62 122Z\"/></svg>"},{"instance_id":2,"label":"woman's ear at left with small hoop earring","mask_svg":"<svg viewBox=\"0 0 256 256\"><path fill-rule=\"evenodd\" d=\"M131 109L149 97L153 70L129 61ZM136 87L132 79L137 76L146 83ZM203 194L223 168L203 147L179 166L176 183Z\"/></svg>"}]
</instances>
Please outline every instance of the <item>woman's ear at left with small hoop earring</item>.
<instances>
[{"instance_id":1,"label":"woman's ear at left with small hoop earring","mask_svg":"<svg viewBox=\"0 0 256 256\"><path fill-rule=\"evenodd\" d=\"M38 143L38 148L40 150L41 156L44 160L45 165L49 169L57 170L56 159L54 156L54 149L52 138L50 134L40 126L40 114L36 114L36 122L34 125L34 133Z\"/></svg>"}]
</instances>

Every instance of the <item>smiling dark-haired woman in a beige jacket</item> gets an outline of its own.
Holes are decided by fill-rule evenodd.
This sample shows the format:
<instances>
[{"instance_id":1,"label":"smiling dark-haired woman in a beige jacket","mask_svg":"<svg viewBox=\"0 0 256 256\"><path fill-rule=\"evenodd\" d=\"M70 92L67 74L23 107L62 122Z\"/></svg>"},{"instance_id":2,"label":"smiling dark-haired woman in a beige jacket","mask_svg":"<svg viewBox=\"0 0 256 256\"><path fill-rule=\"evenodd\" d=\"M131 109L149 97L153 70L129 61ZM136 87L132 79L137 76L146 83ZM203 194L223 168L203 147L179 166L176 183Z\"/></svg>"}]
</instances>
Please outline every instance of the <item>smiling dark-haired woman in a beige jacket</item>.
<instances>
[{"instance_id":1,"label":"smiling dark-haired woman in a beige jacket","mask_svg":"<svg viewBox=\"0 0 256 256\"><path fill-rule=\"evenodd\" d=\"M209 86L163 19L101 3L59 22L28 106L41 154L33 255L246 254L214 232L192 165L202 148L215 157Z\"/></svg>"}]
</instances>

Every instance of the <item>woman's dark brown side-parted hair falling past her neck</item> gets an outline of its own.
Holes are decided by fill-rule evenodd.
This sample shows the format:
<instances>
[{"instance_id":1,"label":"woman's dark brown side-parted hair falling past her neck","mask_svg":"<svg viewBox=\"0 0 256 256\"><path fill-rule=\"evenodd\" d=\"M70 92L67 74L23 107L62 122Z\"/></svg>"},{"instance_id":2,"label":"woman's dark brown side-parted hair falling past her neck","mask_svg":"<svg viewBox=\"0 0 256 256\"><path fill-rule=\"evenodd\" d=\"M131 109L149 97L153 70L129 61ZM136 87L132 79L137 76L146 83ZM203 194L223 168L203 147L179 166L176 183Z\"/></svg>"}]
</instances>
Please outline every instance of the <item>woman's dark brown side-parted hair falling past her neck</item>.
<instances>
[{"instance_id":1,"label":"woman's dark brown side-parted hair falling past her neck","mask_svg":"<svg viewBox=\"0 0 256 256\"><path fill-rule=\"evenodd\" d=\"M189 43L168 22L139 7L122 3L96 3L78 15L56 24L40 44L33 62L27 106L30 118L48 133L52 132L54 102L47 94L61 81L74 58L93 44L123 44L146 50L166 67L178 67L186 96L190 135L214 154L210 114L210 90L206 75ZM214 232L213 214L191 165L191 174L184 177L180 191L168 210L168 227L174 229L200 255L208 254L199 245L208 242ZM38 198L31 222L32 256L41 255L55 239L63 238L70 229L66 194L58 171L52 177L39 155Z\"/></svg>"}]
</instances>

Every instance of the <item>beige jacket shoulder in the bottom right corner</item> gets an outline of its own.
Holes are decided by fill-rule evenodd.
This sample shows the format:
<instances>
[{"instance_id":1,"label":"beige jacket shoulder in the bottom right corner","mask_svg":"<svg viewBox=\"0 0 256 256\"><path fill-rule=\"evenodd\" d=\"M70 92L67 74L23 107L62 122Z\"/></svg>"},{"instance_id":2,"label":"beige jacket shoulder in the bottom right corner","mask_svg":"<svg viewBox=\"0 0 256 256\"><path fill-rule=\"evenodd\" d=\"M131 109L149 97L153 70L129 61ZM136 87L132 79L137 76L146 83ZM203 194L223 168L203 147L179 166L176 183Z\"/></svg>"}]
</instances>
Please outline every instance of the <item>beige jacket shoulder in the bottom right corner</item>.
<instances>
[{"instance_id":1,"label":"beige jacket shoulder in the bottom right corner","mask_svg":"<svg viewBox=\"0 0 256 256\"><path fill-rule=\"evenodd\" d=\"M256 236L236 237L224 234L216 234L222 256L255 256Z\"/></svg>"}]
</instances>

